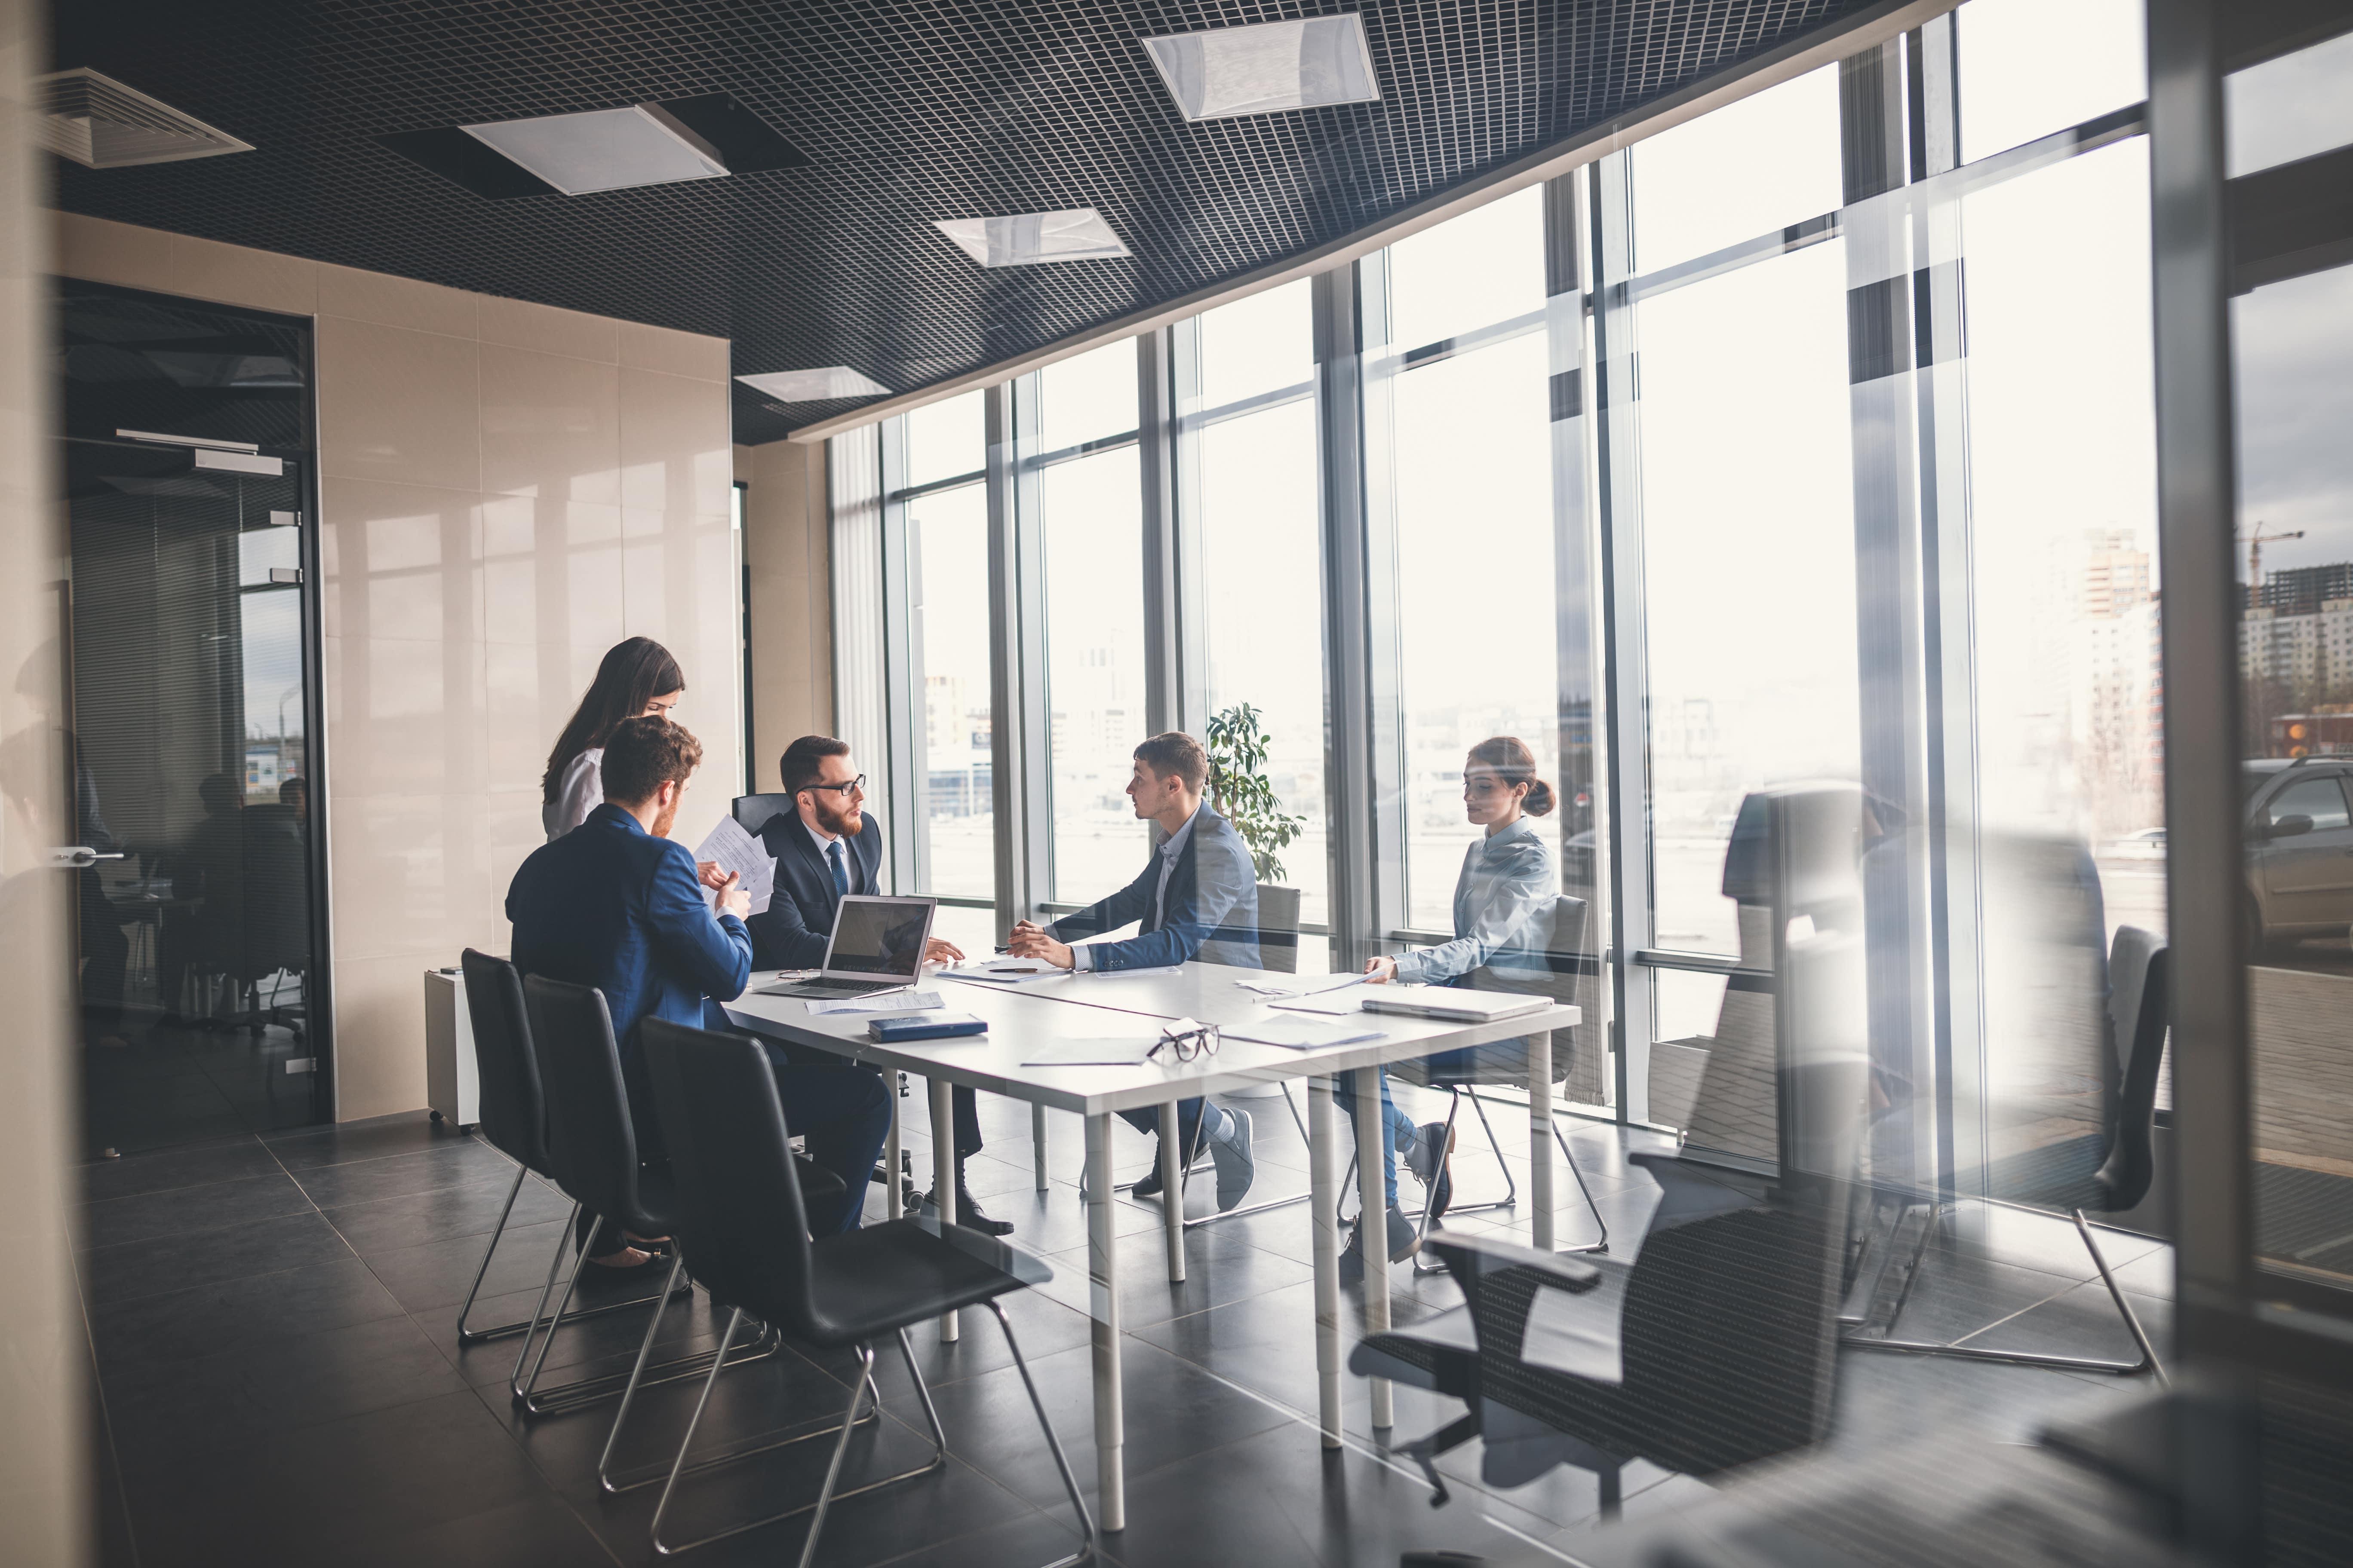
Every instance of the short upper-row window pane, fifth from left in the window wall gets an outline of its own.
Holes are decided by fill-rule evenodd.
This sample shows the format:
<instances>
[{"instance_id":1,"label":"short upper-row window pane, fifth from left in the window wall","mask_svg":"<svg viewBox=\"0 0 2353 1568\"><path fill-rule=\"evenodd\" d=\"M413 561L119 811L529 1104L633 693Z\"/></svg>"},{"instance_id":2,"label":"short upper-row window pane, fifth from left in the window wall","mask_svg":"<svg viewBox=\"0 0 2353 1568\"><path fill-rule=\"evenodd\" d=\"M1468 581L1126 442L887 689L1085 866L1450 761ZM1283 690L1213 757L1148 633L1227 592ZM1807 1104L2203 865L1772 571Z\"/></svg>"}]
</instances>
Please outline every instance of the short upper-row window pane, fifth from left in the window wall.
<instances>
[{"instance_id":1,"label":"short upper-row window pane, fifth from left in the window wall","mask_svg":"<svg viewBox=\"0 0 2353 1568\"><path fill-rule=\"evenodd\" d=\"M1833 212L1838 66L1635 143L1633 190L1640 273Z\"/></svg>"}]
</instances>

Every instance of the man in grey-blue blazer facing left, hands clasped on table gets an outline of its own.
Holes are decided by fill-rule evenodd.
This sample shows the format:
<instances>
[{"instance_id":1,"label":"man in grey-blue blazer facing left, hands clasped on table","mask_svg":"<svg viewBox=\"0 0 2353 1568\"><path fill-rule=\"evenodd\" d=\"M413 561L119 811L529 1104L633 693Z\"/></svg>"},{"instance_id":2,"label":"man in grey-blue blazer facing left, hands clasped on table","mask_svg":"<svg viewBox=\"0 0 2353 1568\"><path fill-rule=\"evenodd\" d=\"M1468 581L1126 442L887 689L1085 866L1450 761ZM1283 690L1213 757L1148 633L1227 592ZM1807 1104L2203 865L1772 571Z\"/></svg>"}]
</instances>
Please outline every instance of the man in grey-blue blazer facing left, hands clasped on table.
<instances>
[{"instance_id":1,"label":"man in grey-blue blazer facing left, hands clasped on table","mask_svg":"<svg viewBox=\"0 0 2353 1568\"><path fill-rule=\"evenodd\" d=\"M1118 971L1162 969L1188 959L1259 969L1259 877L1249 846L1200 792L1209 780L1209 755L1184 731L1153 736L1136 748L1127 799L1136 816L1158 823L1162 839L1144 875L1111 898L1064 914L1052 926L1021 922L1009 947L1061 969ZM1136 922L1125 943L1068 945ZM1122 1110L1136 1131L1160 1126L1158 1110ZM1176 1135L1186 1154L1207 1140L1217 1161L1217 1206L1233 1208L1249 1192L1257 1161L1249 1152L1249 1112L1205 1098L1176 1103ZM1139 1197L1160 1192L1160 1161L1136 1182Z\"/></svg>"}]
</instances>

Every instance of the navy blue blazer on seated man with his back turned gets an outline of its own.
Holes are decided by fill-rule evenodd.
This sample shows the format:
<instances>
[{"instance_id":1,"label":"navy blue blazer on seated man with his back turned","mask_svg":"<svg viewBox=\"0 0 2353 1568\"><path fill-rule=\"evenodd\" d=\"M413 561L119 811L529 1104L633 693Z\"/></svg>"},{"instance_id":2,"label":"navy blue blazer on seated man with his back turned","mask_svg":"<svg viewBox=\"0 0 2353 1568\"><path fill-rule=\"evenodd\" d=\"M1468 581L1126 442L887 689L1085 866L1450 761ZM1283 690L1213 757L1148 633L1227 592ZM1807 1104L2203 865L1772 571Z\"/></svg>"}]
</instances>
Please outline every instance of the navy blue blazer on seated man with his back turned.
<instances>
[{"instance_id":1,"label":"navy blue blazer on seated man with his back turned","mask_svg":"<svg viewBox=\"0 0 2353 1568\"><path fill-rule=\"evenodd\" d=\"M751 980L751 933L734 914L713 919L694 853L609 802L532 851L506 889L506 919L515 922L515 969L605 992L621 1072L640 1105L638 1025L668 1018L701 1027L704 997L734 1001Z\"/></svg>"}]
</instances>

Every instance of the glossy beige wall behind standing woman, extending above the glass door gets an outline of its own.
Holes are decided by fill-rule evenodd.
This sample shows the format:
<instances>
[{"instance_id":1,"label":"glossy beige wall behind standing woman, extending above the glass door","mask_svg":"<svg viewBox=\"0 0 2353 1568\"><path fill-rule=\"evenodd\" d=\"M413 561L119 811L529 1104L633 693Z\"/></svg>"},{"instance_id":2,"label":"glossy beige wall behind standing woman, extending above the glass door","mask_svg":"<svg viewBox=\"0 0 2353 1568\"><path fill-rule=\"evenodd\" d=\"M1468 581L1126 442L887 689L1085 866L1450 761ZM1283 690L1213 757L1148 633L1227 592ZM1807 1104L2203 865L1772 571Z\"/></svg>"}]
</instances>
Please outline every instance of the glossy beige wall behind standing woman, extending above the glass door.
<instances>
[{"instance_id":1,"label":"glossy beige wall behind standing woman, extending above the glass door","mask_svg":"<svg viewBox=\"0 0 2353 1568\"><path fill-rule=\"evenodd\" d=\"M56 223L78 277L278 310L313 280L336 1114L416 1110L421 976L506 950L539 776L605 649L645 632L687 670L680 837L736 792L727 343Z\"/></svg>"}]
</instances>

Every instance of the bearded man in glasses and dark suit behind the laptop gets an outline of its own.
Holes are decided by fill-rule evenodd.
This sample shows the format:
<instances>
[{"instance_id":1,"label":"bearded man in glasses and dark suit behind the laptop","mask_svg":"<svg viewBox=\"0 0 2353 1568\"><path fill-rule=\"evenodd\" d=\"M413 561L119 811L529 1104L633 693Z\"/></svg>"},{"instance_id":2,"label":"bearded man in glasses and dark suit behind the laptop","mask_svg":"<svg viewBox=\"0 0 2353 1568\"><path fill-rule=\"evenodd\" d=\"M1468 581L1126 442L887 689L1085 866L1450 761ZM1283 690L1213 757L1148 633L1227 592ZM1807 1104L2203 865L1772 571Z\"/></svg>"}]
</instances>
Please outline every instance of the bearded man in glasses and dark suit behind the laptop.
<instances>
[{"instance_id":1,"label":"bearded man in glasses and dark suit behind the laptop","mask_svg":"<svg viewBox=\"0 0 2353 1568\"><path fill-rule=\"evenodd\" d=\"M849 759L847 741L802 736L784 748L776 771L793 811L760 827L760 844L776 858L776 891L748 922L753 966L816 969L842 896L873 893L880 884L882 823L866 816L866 776ZM955 964L965 954L934 936L922 957ZM955 1220L991 1237L1009 1234L1012 1225L981 1213L965 1187L965 1161L981 1152L981 1112L969 1088L953 1098Z\"/></svg>"}]
</instances>

